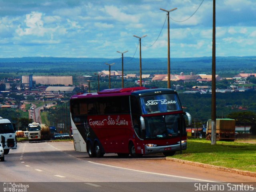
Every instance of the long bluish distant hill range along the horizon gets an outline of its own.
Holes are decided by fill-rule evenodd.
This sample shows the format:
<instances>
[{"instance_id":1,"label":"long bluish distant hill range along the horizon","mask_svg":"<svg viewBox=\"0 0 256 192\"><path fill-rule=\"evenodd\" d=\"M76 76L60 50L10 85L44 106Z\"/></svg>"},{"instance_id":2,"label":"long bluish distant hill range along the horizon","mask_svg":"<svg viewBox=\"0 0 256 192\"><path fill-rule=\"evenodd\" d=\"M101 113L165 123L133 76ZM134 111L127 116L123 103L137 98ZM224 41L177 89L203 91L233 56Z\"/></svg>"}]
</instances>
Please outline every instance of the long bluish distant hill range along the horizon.
<instances>
[{"instance_id":1,"label":"long bluish distant hill range along the horizon","mask_svg":"<svg viewBox=\"0 0 256 192\"><path fill-rule=\"evenodd\" d=\"M23 57L0 58L1 72L95 72L108 70L105 63L115 63L111 70L121 70L120 58L55 58L55 57ZM171 58L171 73L184 72L211 73L212 58ZM125 71L138 71L139 58L124 57ZM167 71L167 58L142 58L142 70L164 73ZM236 74L240 71L256 72L256 56L217 57L216 72Z\"/></svg>"}]
</instances>

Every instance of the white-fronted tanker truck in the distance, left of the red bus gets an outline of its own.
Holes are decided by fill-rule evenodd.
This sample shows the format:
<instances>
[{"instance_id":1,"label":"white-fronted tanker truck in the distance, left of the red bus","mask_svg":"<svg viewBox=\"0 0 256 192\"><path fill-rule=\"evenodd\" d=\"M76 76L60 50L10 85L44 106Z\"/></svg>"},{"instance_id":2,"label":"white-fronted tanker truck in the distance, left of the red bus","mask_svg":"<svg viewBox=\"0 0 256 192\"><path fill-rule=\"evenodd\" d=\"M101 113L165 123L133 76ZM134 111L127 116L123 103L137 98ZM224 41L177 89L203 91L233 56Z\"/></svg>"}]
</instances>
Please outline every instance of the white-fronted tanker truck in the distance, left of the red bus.
<instances>
[{"instance_id":1,"label":"white-fronted tanker truck in the distance, left of the red bus","mask_svg":"<svg viewBox=\"0 0 256 192\"><path fill-rule=\"evenodd\" d=\"M50 128L46 124L30 123L28 124L28 140L50 140Z\"/></svg>"}]
</instances>

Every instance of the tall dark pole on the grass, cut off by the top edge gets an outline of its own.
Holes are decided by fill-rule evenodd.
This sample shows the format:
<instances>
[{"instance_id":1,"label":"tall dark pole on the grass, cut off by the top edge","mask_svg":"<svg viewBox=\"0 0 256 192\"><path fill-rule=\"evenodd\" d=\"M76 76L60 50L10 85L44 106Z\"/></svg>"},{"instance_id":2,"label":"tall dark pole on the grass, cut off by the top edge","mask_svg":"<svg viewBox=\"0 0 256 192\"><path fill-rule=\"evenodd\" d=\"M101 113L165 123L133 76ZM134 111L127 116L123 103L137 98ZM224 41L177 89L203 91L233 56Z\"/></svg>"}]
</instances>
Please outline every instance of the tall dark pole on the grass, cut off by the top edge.
<instances>
[{"instance_id":1,"label":"tall dark pole on the grass, cut off by the top edge","mask_svg":"<svg viewBox=\"0 0 256 192\"><path fill-rule=\"evenodd\" d=\"M216 42L215 42L215 0L212 14L212 138L211 144L216 144Z\"/></svg>"}]
</instances>

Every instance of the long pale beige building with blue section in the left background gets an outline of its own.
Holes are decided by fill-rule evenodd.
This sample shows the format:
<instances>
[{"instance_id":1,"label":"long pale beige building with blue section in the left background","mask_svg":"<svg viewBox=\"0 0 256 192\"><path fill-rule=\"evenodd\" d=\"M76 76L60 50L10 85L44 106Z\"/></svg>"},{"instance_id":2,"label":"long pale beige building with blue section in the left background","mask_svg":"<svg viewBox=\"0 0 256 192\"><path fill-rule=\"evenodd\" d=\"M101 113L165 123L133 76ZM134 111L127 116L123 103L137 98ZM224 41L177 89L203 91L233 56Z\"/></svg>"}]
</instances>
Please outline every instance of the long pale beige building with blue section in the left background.
<instances>
[{"instance_id":1,"label":"long pale beige building with blue section in the left background","mask_svg":"<svg viewBox=\"0 0 256 192\"><path fill-rule=\"evenodd\" d=\"M42 85L57 85L62 84L65 86L72 85L72 76L22 76L22 83L30 85L32 82Z\"/></svg>"}]
</instances>

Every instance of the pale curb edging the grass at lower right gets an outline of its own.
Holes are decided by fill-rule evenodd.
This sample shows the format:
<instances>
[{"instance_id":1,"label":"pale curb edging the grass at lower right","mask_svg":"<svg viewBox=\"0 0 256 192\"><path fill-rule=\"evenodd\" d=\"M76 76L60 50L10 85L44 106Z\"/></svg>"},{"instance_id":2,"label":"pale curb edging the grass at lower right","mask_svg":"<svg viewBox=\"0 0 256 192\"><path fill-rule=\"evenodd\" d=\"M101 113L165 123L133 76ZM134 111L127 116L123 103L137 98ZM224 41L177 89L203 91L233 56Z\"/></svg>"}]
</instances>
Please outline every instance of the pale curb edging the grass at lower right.
<instances>
[{"instance_id":1,"label":"pale curb edging the grass at lower right","mask_svg":"<svg viewBox=\"0 0 256 192\"><path fill-rule=\"evenodd\" d=\"M235 174L241 174L244 176L256 177L256 172L242 171L242 170L231 169L231 168L226 168L226 167L219 167L219 166L208 165L208 164L192 162L192 161L187 161L187 160L182 160L182 159L176 159L176 158L171 158L171 157L166 157L166 160L178 162L178 163L184 163L184 164L188 164L188 165L193 165L193 166L197 166L197 167L216 169L218 171L225 171L225 172L230 172L230 173L235 173Z\"/></svg>"}]
</instances>

